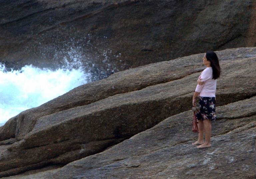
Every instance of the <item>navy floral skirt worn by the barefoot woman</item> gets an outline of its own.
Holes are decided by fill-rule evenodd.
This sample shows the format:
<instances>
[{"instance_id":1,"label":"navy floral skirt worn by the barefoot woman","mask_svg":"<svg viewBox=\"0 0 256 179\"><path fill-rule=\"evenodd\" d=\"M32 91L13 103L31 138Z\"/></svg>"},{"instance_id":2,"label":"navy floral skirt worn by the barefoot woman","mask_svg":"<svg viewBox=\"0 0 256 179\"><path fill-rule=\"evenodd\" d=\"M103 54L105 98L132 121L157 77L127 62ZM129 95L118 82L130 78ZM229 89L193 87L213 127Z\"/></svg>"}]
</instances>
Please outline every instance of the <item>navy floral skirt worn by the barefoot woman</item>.
<instances>
[{"instance_id":1,"label":"navy floral skirt worn by the barefoot woman","mask_svg":"<svg viewBox=\"0 0 256 179\"><path fill-rule=\"evenodd\" d=\"M200 110L196 113L197 120L210 119L215 122L215 97L199 97Z\"/></svg>"}]
</instances>

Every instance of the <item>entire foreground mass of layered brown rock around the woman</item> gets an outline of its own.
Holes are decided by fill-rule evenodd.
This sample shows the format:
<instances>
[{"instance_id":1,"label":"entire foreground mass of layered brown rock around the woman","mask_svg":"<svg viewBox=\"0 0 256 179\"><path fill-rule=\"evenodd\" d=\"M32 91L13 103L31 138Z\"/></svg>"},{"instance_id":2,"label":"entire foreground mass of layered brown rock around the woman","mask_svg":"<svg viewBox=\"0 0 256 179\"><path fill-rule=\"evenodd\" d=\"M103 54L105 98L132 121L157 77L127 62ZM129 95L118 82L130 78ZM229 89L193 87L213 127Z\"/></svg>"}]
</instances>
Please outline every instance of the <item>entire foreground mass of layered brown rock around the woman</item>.
<instances>
[{"instance_id":1,"label":"entire foreground mass of layered brown rock around the woman","mask_svg":"<svg viewBox=\"0 0 256 179\"><path fill-rule=\"evenodd\" d=\"M214 145L209 154L191 145L197 137L191 131L192 96L205 68L204 54L195 54L114 73L9 119L0 127L0 176L74 161L56 171L17 177L122 178L127 171L133 173L131 178L189 178L199 177L199 169L205 173L205 167L219 168L214 174L205 173L214 178L225 170L234 173L234 160L240 167L236 178L253 176L255 52L255 47L216 52L222 72L217 80L217 122L212 124ZM245 153L240 146L252 152ZM201 163L193 163L202 155L206 156ZM232 165L223 168L225 157Z\"/></svg>"}]
</instances>

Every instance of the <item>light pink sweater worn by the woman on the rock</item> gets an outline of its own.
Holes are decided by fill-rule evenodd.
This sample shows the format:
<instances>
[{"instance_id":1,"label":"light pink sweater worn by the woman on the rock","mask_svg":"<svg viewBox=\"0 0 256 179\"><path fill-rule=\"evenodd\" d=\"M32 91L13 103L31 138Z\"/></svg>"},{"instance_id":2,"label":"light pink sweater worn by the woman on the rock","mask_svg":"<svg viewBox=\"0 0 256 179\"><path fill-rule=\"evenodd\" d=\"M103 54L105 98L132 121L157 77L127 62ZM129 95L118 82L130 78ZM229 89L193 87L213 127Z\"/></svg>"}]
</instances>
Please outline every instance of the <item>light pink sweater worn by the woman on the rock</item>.
<instances>
[{"instance_id":1,"label":"light pink sweater worn by the woman on the rock","mask_svg":"<svg viewBox=\"0 0 256 179\"><path fill-rule=\"evenodd\" d=\"M212 79L212 77L212 67L206 67L198 77L204 81L203 85L196 86L195 91L200 93L199 96L215 97L217 79Z\"/></svg>"}]
</instances>

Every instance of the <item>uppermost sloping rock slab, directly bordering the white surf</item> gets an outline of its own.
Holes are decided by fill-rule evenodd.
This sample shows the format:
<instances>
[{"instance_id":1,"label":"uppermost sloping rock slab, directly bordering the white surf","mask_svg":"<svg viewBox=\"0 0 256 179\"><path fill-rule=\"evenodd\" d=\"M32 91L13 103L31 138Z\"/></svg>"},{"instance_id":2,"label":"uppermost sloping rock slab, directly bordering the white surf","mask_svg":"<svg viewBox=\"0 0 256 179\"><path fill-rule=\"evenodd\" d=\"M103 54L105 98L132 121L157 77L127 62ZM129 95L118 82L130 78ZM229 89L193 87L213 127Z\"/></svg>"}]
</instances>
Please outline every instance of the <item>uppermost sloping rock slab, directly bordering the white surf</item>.
<instances>
[{"instance_id":1,"label":"uppermost sloping rock slab, directly bordering the white surf","mask_svg":"<svg viewBox=\"0 0 256 179\"><path fill-rule=\"evenodd\" d=\"M220 65L223 68L221 78L218 79L217 93L219 89L221 89L219 81L221 83L221 79L225 78L229 73L233 73L235 76L230 75L231 81L227 82L226 85L222 84L225 85L224 88L236 88L235 85L237 84L239 84L239 87L237 88L242 88L240 83L241 80L243 81L243 78L245 78L249 84L255 81L255 78L252 78L250 79L251 82L249 82L245 74L250 73L250 71L253 70L247 69L247 67L254 65L255 63L253 59L256 56L256 47L226 49L216 53L220 58ZM197 76L199 76L198 74L200 74L205 68L202 64L203 55L204 53L194 54L170 61L132 68L114 73L106 79L76 87L47 103L23 111L17 116L9 119L4 126L0 127L0 141L14 137L21 140L25 134L33 129L38 118L77 106L87 105L95 101L105 99L109 96L140 90L147 86L160 83L179 80L191 74L193 76L192 81L195 81L194 85L196 85ZM251 59L251 57L253 59ZM243 64L246 66L243 67L243 64L239 64L240 61L237 60L240 59L244 59ZM249 62L248 64L247 61ZM239 72L241 69L245 71L245 74L238 76L235 70L238 70ZM238 78L238 80L234 80L236 78ZM234 82L236 82L236 84L234 84ZM182 82L174 82L174 84L176 83ZM190 86L191 85L192 83L190 81ZM174 88L172 92L183 89L184 85L182 87L181 86ZM243 86L247 86L247 84L244 84ZM192 92L194 88L195 87L191 86L190 92ZM234 93L236 93L236 90L234 90ZM221 98L223 97L225 98L225 96L221 96ZM223 101L224 100L231 99L223 99ZM223 105L227 104L228 101L226 103L222 103L221 101L218 102L218 105Z\"/></svg>"}]
</instances>

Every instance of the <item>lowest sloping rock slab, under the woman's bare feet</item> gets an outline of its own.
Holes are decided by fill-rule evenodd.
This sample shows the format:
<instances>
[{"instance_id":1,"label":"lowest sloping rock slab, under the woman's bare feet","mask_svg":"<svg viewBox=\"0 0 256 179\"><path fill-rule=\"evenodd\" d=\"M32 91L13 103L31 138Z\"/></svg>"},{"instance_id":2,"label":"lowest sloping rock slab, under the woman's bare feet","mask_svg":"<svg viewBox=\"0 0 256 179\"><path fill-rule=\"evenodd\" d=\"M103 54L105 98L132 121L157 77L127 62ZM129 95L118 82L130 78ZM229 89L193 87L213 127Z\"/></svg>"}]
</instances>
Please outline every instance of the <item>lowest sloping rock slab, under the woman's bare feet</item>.
<instances>
[{"instance_id":1,"label":"lowest sloping rock slab, under the woman's bare feet","mask_svg":"<svg viewBox=\"0 0 256 179\"><path fill-rule=\"evenodd\" d=\"M255 178L256 96L216 107L211 147L192 145L192 111L156 126L101 153L34 175L8 178ZM243 117L241 117L241 115Z\"/></svg>"}]
</instances>

